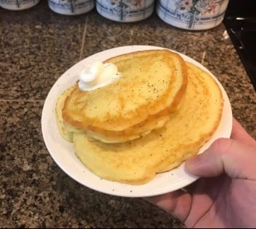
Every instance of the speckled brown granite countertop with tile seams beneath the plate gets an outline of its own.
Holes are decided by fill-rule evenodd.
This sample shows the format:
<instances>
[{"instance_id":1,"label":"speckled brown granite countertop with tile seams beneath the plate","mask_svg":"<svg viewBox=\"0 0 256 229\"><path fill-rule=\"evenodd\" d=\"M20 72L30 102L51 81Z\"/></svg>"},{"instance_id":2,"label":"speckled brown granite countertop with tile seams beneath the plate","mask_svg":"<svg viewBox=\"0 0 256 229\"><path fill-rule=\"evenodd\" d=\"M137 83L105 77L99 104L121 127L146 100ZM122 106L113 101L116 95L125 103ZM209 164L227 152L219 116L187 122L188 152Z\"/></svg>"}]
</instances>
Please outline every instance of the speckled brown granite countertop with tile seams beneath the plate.
<instances>
[{"instance_id":1,"label":"speckled brown granite countertop with tile seams beneath the plate","mask_svg":"<svg viewBox=\"0 0 256 229\"><path fill-rule=\"evenodd\" d=\"M95 9L75 17L56 14L46 1L22 12L0 9L0 227L183 227L143 199L99 193L66 175L44 144L41 112L51 86L81 59L117 46L162 46L212 71L234 117L256 138L256 93L225 35L223 24L190 32L155 13L119 23Z\"/></svg>"}]
</instances>

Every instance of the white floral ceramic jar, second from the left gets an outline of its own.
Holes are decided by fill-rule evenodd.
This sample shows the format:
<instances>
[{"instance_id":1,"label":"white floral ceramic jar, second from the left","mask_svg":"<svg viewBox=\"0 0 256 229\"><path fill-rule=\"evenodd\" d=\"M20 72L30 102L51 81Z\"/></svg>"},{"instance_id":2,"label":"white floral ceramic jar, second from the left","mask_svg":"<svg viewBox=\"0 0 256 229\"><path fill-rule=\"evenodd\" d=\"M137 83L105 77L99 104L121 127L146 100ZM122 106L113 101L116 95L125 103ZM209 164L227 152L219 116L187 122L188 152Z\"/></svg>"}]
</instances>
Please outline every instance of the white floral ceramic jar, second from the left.
<instances>
[{"instance_id":1,"label":"white floral ceramic jar, second from the left","mask_svg":"<svg viewBox=\"0 0 256 229\"><path fill-rule=\"evenodd\" d=\"M78 15L89 12L95 7L94 0L48 0L49 8L65 15Z\"/></svg>"}]
</instances>

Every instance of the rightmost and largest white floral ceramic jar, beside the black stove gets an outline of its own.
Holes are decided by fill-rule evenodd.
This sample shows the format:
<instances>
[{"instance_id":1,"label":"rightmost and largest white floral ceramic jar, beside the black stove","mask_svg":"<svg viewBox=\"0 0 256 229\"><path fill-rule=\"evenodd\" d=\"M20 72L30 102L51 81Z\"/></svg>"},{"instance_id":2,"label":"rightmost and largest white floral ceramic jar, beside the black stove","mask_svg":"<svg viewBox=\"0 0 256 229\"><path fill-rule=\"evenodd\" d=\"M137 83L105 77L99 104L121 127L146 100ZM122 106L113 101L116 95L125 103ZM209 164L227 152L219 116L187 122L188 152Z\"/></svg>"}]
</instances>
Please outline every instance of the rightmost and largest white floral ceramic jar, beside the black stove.
<instances>
[{"instance_id":1,"label":"rightmost and largest white floral ceramic jar, beside the black stove","mask_svg":"<svg viewBox=\"0 0 256 229\"><path fill-rule=\"evenodd\" d=\"M186 30L207 30L223 21L228 0L159 0L157 14L165 22Z\"/></svg>"}]
</instances>

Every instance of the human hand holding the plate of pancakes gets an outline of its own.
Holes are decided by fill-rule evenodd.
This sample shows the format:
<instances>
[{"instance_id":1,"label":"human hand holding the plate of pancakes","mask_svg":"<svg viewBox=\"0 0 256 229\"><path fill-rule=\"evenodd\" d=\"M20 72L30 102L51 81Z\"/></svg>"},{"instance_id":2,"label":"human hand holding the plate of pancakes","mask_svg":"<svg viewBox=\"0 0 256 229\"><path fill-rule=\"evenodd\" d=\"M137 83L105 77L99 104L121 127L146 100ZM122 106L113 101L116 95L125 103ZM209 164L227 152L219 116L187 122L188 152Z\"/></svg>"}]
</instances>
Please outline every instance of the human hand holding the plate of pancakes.
<instances>
[{"instance_id":1,"label":"human hand holding the plate of pancakes","mask_svg":"<svg viewBox=\"0 0 256 229\"><path fill-rule=\"evenodd\" d=\"M185 165L188 172L201 177L188 192L146 200L188 228L255 228L256 141L239 122L233 120L231 139L218 139Z\"/></svg>"}]
</instances>

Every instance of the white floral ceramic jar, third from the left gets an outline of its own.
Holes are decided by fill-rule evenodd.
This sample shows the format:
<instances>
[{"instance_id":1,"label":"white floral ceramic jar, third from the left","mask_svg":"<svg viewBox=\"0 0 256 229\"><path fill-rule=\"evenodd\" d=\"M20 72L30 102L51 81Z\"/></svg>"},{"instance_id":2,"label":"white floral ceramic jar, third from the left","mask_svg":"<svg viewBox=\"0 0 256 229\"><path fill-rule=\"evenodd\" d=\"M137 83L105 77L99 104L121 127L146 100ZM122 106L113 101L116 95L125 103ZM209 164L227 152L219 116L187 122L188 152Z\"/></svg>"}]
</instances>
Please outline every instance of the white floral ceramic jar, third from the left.
<instances>
[{"instance_id":1,"label":"white floral ceramic jar, third from the left","mask_svg":"<svg viewBox=\"0 0 256 229\"><path fill-rule=\"evenodd\" d=\"M96 10L117 22L137 22L154 12L154 0L96 0Z\"/></svg>"}]
</instances>

